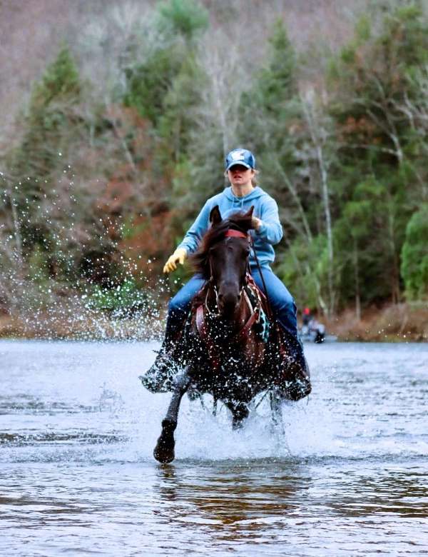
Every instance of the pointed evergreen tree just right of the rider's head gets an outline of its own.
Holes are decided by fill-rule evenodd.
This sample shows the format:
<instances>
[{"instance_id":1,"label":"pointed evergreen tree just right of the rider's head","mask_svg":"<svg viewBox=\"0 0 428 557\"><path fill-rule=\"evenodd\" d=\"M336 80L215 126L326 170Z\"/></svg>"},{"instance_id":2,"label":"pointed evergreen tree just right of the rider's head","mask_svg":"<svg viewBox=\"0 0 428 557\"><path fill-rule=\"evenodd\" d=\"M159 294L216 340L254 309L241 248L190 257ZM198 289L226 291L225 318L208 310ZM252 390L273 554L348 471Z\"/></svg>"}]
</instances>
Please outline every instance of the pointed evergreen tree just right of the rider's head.
<instances>
[{"instance_id":1,"label":"pointed evergreen tree just right of the rider's head","mask_svg":"<svg viewBox=\"0 0 428 557\"><path fill-rule=\"evenodd\" d=\"M306 292L301 303L312 300L314 306L329 313L335 305L327 176L329 131L314 95L306 101L300 98L296 56L281 21L275 24L266 66L243 95L243 114L241 134L255 149L263 169L263 186L277 199L285 226L290 253L278 253L280 276L292 291ZM325 246L328 260L323 266L315 257L320 246ZM305 276L305 286L297 284L299 276Z\"/></svg>"}]
</instances>

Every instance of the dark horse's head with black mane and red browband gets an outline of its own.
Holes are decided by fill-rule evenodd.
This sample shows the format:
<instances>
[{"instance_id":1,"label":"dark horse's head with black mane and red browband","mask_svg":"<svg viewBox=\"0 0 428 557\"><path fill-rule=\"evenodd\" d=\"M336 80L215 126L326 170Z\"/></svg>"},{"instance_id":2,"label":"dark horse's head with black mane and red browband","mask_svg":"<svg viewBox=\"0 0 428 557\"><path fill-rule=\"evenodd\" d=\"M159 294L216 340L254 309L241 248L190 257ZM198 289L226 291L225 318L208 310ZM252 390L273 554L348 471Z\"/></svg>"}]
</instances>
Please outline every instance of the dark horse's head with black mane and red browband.
<instances>
[{"instance_id":1,"label":"dark horse's head with black mane and red browband","mask_svg":"<svg viewBox=\"0 0 428 557\"><path fill-rule=\"evenodd\" d=\"M215 291L218 311L233 318L240 305L248 268L253 209L222 219L218 206L210 213L211 228L193 256L196 269L209 280Z\"/></svg>"}]
</instances>

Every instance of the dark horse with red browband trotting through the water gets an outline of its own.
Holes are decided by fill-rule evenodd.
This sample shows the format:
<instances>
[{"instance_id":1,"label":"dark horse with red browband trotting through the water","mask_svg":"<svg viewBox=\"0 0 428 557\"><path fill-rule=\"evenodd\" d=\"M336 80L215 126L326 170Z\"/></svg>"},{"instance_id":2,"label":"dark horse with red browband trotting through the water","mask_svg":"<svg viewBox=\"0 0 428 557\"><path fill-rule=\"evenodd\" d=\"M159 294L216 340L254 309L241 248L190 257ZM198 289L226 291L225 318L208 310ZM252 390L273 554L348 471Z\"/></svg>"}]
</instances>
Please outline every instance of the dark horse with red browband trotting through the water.
<instances>
[{"instance_id":1,"label":"dark horse with red browband trotting through the water","mask_svg":"<svg viewBox=\"0 0 428 557\"><path fill-rule=\"evenodd\" d=\"M282 400L297 401L310 393L307 366L292 358L285 333L267 319L266 298L248 272L252 215L253 207L223 220L216 206L210 230L190 257L206 283L193 300L175 348L175 368L180 371L153 451L162 463L175 458L174 431L186 391L191 398L210 393L215 406L223 401L234 428L248 416L248 404L258 393L270 393L274 421Z\"/></svg>"}]
</instances>

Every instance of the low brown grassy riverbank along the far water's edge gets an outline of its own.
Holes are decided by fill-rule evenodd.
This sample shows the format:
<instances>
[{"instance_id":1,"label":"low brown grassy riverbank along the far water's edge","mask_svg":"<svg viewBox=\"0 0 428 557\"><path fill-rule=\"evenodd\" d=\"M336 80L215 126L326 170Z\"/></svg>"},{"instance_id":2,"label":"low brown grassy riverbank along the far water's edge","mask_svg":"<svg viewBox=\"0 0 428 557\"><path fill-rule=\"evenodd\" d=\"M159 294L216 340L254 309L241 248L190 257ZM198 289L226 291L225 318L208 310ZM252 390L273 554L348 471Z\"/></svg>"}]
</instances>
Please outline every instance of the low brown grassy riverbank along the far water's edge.
<instances>
[{"instance_id":1,"label":"low brown grassy riverbank along the far water's edge","mask_svg":"<svg viewBox=\"0 0 428 557\"><path fill-rule=\"evenodd\" d=\"M76 308L77 309L77 308ZM80 308L81 309L81 308ZM427 342L428 304L408 304L368 308L358 320L346 310L331 319L320 318L327 333L338 341ZM158 340L164 321L138 314L115 318L101 312L46 311L36 317L0 316L0 338L66 338L71 340Z\"/></svg>"}]
</instances>

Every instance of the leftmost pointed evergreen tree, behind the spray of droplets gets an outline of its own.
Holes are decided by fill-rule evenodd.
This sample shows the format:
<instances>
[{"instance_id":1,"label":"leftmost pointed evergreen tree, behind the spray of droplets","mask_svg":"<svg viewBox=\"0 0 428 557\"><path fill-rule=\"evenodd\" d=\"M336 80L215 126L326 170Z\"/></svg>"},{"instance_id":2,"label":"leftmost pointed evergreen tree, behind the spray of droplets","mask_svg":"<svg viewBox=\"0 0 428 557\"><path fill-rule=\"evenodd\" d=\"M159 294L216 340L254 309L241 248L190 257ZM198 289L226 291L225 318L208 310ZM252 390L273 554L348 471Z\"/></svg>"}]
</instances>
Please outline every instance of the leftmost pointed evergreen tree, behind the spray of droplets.
<instances>
[{"instance_id":1,"label":"leftmost pointed evergreen tree, behind the spray of droplets","mask_svg":"<svg viewBox=\"0 0 428 557\"><path fill-rule=\"evenodd\" d=\"M54 227L49 226L44 209L58 200L58 167L62 170L68 160L73 134L79 134L82 120L76 104L80 95L78 70L64 46L35 84L21 122L21 142L9 154L8 166L17 184L13 203L22 247L28 254L36 245L47 252L55 244ZM59 226L57 220L53 224Z\"/></svg>"}]
</instances>

